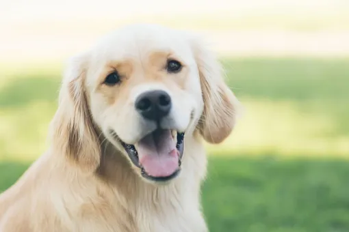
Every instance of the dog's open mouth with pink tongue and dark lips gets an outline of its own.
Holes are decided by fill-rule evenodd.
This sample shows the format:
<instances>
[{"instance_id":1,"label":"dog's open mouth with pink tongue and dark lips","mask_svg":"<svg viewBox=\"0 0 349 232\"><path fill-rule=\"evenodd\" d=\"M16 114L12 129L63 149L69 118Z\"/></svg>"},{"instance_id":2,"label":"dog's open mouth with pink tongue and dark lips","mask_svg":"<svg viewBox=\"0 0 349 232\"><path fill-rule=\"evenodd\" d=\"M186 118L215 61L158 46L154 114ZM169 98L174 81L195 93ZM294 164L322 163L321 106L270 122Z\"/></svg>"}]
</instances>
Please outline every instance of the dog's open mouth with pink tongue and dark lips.
<instances>
[{"instance_id":1,"label":"dog's open mouth with pink tongue and dark lips","mask_svg":"<svg viewBox=\"0 0 349 232\"><path fill-rule=\"evenodd\" d=\"M141 170L142 177L167 181L181 170L184 133L176 130L155 130L134 145L122 143L129 158Z\"/></svg>"}]
</instances>

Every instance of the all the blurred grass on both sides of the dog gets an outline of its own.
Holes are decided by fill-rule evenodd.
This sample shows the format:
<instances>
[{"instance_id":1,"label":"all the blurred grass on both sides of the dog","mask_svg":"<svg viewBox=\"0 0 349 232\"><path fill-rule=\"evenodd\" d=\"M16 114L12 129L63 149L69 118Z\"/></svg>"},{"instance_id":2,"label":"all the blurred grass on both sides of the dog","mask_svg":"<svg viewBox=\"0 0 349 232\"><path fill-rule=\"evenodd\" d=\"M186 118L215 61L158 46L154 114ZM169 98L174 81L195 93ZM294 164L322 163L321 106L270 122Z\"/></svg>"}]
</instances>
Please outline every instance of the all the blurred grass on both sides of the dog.
<instances>
[{"instance_id":1,"label":"all the blurred grass on both sides of the dog","mask_svg":"<svg viewBox=\"0 0 349 232\"><path fill-rule=\"evenodd\" d=\"M207 145L211 231L349 231L349 59L224 59L244 106ZM3 70L0 192L47 148L60 68Z\"/></svg>"}]
</instances>

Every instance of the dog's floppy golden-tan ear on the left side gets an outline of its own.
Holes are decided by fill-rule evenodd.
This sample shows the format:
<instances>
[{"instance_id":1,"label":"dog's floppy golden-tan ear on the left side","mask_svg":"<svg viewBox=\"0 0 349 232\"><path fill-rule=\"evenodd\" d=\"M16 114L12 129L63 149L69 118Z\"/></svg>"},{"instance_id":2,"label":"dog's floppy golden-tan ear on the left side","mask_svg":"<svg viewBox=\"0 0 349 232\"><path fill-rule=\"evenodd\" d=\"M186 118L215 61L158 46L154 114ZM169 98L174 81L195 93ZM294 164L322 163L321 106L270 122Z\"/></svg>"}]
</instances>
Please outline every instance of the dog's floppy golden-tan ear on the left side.
<instances>
[{"instance_id":1,"label":"dog's floppy golden-tan ear on the left side","mask_svg":"<svg viewBox=\"0 0 349 232\"><path fill-rule=\"evenodd\" d=\"M99 166L101 147L88 108L83 83L88 54L70 59L64 74L57 112L51 122L54 149L60 151L83 171Z\"/></svg>"}]
</instances>

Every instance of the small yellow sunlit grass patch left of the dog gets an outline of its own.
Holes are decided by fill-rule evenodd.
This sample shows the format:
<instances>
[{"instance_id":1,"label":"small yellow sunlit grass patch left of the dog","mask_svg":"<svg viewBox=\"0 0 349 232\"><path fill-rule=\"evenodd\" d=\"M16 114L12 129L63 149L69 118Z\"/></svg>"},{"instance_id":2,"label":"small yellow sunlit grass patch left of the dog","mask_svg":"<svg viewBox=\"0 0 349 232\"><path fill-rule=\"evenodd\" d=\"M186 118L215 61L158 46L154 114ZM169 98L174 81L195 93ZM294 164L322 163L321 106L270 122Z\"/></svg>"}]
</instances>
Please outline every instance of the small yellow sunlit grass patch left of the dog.
<instances>
[{"instance_id":1,"label":"small yellow sunlit grass patch left of the dog","mask_svg":"<svg viewBox=\"0 0 349 232\"><path fill-rule=\"evenodd\" d=\"M47 148L47 130L55 104L34 102L0 114L0 160L31 161Z\"/></svg>"}]
</instances>

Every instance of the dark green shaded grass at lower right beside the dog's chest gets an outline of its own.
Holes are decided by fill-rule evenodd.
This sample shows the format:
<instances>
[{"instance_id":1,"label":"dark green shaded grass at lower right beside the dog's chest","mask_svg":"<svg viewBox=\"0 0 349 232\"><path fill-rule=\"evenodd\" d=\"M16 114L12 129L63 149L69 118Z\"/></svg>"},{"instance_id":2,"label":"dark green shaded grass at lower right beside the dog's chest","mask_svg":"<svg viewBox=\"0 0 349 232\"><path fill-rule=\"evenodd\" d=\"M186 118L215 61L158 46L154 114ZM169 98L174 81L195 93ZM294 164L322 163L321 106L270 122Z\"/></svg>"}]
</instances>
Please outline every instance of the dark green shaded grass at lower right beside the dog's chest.
<instances>
[{"instance_id":1,"label":"dark green shaded grass at lower right beside the dog's chest","mask_svg":"<svg viewBox=\"0 0 349 232\"><path fill-rule=\"evenodd\" d=\"M349 162L210 161L203 203L211 231L349 230Z\"/></svg>"}]
</instances>

